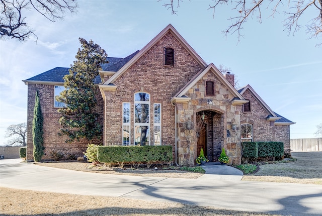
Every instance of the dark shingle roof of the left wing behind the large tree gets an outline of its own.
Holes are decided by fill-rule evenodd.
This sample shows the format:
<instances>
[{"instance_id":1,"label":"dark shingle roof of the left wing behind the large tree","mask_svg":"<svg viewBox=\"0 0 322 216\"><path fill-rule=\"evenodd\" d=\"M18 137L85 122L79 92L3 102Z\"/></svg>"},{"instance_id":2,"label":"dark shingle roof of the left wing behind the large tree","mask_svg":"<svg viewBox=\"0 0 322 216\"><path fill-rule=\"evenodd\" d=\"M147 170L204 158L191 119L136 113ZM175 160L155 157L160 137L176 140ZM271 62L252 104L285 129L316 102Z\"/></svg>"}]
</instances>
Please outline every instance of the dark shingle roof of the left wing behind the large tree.
<instances>
[{"instance_id":1,"label":"dark shingle roof of the left wing behind the large tree","mask_svg":"<svg viewBox=\"0 0 322 216\"><path fill-rule=\"evenodd\" d=\"M105 71L117 72L121 67L123 67L128 61L130 61L137 53L136 51L125 58L107 57L109 63L103 64L102 69ZM64 82L63 77L69 73L68 67L55 67L51 70L33 76L24 81L44 81L44 82ZM101 77L98 75L94 80L95 84L101 83Z\"/></svg>"}]
</instances>

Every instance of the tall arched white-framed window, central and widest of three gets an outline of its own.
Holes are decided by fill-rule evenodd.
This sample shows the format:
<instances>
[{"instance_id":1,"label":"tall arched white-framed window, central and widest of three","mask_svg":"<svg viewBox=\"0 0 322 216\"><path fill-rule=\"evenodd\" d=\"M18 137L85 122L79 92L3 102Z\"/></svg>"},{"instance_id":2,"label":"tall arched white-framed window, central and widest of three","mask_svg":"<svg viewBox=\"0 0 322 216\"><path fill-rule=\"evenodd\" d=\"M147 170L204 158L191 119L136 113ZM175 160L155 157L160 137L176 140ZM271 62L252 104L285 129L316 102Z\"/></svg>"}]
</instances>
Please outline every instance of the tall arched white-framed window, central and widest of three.
<instances>
[{"instance_id":1,"label":"tall arched white-framed window, central and widest of three","mask_svg":"<svg viewBox=\"0 0 322 216\"><path fill-rule=\"evenodd\" d=\"M150 94L134 94L134 145L150 145Z\"/></svg>"}]
</instances>

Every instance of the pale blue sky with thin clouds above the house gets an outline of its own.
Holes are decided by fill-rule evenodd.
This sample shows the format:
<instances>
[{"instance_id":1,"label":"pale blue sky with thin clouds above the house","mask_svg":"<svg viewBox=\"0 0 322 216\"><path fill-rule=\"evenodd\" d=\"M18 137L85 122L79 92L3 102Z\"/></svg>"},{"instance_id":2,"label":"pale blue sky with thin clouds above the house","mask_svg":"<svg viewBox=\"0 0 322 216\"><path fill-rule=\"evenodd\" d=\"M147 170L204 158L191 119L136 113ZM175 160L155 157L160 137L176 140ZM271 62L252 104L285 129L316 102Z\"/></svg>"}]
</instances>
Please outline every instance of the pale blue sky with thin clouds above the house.
<instances>
[{"instance_id":1,"label":"pale blue sky with thin clouds above the house","mask_svg":"<svg viewBox=\"0 0 322 216\"><path fill-rule=\"evenodd\" d=\"M295 36L283 31L283 12L262 23L255 18L237 35L224 36L229 10L207 10L211 1L184 1L177 15L165 1L78 0L78 12L52 23L34 11L26 20L35 34L26 42L0 41L0 145L12 124L27 121L27 85L22 80L54 67L69 67L80 44L93 40L109 57L126 57L141 50L169 24L207 63L224 65L240 87L250 84L270 108L295 122L291 139L314 138L322 123L322 46L307 39L305 28ZM305 16L312 16L310 13ZM317 15L316 15L317 16ZM303 25L312 17L303 17Z\"/></svg>"}]
</instances>

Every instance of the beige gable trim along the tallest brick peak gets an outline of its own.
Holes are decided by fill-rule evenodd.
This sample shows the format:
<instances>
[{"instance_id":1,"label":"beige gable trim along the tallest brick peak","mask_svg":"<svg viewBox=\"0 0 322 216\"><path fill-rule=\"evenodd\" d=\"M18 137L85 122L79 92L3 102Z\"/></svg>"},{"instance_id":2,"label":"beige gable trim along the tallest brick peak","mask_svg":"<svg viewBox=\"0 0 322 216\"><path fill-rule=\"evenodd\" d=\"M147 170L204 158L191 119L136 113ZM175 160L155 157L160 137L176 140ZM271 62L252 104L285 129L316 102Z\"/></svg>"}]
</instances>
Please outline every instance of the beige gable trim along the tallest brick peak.
<instances>
[{"instance_id":1,"label":"beige gable trim along the tallest brick peak","mask_svg":"<svg viewBox=\"0 0 322 216\"><path fill-rule=\"evenodd\" d=\"M175 38L185 47L195 60L202 65L207 67L206 62L196 53L196 51L187 43L187 41L177 32L177 30L169 24L163 31L161 31L157 36L155 36L145 47L143 47L131 60L129 60L125 65L123 65L117 73L115 73L110 79L108 79L104 85L113 83L122 73L127 70L134 62L136 62L142 55L144 55L153 45L155 45L162 37L164 37L168 32L171 32Z\"/></svg>"}]
</instances>

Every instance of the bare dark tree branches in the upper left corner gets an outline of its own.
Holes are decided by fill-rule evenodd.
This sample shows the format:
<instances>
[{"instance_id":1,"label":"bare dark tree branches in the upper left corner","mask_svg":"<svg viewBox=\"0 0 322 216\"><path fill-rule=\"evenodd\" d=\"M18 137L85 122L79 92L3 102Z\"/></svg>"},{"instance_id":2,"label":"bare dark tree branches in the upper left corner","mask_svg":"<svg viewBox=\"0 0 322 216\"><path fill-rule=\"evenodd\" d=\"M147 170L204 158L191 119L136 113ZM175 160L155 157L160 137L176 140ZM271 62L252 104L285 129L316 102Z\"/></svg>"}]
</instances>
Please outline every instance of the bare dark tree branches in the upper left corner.
<instances>
[{"instance_id":1,"label":"bare dark tree branches in the upper left corner","mask_svg":"<svg viewBox=\"0 0 322 216\"><path fill-rule=\"evenodd\" d=\"M0 39L24 41L35 35L24 12L33 8L51 22L63 20L65 13L75 13L76 0L0 0ZM36 36L37 37L37 36Z\"/></svg>"}]
</instances>

